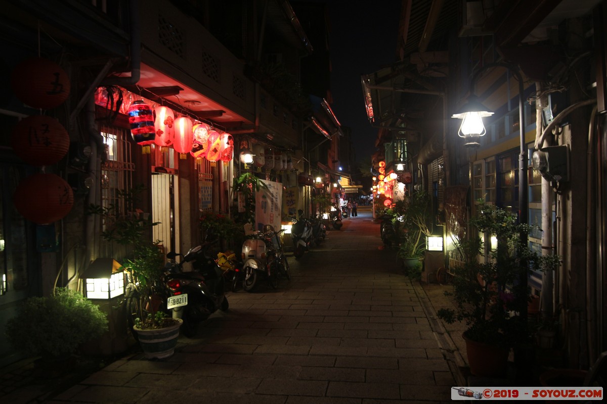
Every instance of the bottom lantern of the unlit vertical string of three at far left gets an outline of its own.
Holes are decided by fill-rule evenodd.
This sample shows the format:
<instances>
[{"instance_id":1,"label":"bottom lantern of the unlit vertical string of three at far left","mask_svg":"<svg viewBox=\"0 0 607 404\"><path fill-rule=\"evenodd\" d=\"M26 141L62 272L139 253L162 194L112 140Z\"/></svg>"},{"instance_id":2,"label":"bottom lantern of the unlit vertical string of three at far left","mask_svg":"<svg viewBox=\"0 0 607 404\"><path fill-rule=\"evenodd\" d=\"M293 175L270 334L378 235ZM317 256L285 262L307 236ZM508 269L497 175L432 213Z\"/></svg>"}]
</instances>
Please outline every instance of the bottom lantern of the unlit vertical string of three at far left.
<instances>
[{"instance_id":1,"label":"bottom lantern of the unlit vertical string of three at far left","mask_svg":"<svg viewBox=\"0 0 607 404\"><path fill-rule=\"evenodd\" d=\"M19 182L13 198L27 220L47 225L63 219L72 210L72 187L55 174L33 174Z\"/></svg>"}]
</instances>

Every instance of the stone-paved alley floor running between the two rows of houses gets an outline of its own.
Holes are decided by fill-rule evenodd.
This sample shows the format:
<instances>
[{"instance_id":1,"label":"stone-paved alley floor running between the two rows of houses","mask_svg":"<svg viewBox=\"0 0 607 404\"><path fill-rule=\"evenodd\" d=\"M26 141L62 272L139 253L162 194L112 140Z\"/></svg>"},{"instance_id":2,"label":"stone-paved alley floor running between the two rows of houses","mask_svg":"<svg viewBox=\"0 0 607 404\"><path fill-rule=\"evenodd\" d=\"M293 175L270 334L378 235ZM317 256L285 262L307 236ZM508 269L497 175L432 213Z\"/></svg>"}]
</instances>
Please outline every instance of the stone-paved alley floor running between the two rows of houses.
<instances>
[{"instance_id":1,"label":"stone-paved alley floor running between the two rows of houses","mask_svg":"<svg viewBox=\"0 0 607 404\"><path fill-rule=\"evenodd\" d=\"M214 314L194 339L180 337L166 361L135 353L53 397L23 388L2 400L451 402L450 388L461 383L458 351L454 358L426 292L402 275L394 250L381 248L370 211L344 219L324 245L289 260L290 282L229 293L228 313Z\"/></svg>"}]
</instances>

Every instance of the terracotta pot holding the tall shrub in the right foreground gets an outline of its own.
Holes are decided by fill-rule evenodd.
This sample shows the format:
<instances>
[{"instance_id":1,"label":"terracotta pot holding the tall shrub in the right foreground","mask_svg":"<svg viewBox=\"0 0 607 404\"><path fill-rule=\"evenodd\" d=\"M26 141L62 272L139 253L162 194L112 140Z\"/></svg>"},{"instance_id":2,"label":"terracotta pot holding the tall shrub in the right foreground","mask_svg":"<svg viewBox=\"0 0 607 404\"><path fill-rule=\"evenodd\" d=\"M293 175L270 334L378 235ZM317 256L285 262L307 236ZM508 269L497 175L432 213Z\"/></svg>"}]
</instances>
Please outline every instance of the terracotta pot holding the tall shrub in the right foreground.
<instances>
[{"instance_id":1,"label":"terracotta pot holding the tall shrub in the right foreground","mask_svg":"<svg viewBox=\"0 0 607 404\"><path fill-rule=\"evenodd\" d=\"M499 377L506 374L510 349L469 339L464 332L470 373L475 376Z\"/></svg>"}]
</instances>

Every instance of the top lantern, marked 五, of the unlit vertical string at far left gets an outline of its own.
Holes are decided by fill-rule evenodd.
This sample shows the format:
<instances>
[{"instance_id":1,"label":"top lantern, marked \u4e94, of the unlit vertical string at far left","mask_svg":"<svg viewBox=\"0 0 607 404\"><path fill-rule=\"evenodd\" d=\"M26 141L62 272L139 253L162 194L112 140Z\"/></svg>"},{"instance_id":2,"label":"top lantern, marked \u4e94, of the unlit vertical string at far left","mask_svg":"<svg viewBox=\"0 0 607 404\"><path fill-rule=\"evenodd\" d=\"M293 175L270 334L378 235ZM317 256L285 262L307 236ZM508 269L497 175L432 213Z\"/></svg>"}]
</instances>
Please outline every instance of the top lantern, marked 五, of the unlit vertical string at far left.
<instances>
[{"instance_id":1,"label":"top lantern, marked \u4e94, of the unlit vertical string at far left","mask_svg":"<svg viewBox=\"0 0 607 404\"><path fill-rule=\"evenodd\" d=\"M29 58L13 70L11 87L24 104L49 110L66 101L70 79L61 66L49 59Z\"/></svg>"}]
</instances>

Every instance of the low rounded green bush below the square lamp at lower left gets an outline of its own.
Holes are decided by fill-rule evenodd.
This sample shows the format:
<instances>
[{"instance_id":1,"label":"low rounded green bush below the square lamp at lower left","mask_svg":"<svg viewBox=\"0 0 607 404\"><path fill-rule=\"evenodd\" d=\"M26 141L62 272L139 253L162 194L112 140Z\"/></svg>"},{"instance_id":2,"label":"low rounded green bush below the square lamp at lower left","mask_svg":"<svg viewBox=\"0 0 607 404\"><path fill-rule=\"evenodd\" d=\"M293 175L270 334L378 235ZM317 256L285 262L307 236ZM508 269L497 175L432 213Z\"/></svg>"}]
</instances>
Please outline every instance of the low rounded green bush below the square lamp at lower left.
<instances>
[{"instance_id":1,"label":"low rounded green bush below the square lamp at lower left","mask_svg":"<svg viewBox=\"0 0 607 404\"><path fill-rule=\"evenodd\" d=\"M89 340L107 331L106 315L80 292L55 288L51 296L30 297L8 319L6 334L13 348L54 363L56 371Z\"/></svg>"}]
</instances>

